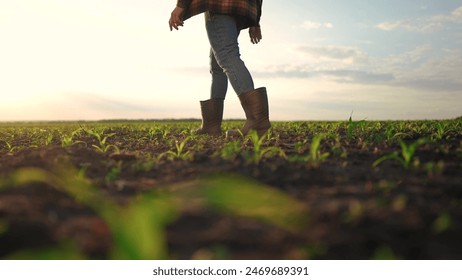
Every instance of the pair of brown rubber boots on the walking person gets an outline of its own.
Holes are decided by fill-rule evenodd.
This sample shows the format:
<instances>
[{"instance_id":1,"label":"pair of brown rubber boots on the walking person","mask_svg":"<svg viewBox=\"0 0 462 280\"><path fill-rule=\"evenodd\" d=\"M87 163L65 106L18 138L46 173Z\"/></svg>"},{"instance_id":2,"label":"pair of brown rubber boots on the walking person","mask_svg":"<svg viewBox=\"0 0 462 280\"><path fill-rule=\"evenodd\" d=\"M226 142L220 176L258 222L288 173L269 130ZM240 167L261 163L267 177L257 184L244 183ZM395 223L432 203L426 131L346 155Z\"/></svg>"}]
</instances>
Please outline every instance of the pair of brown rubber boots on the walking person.
<instances>
[{"instance_id":1,"label":"pair of brown rubber boots on the walking person","mask_svg":"<svg viewBox=\"0 0 462 280\"><path fill-rule=\"evenodd\" d=\"M269 121L268 95L266 88L258 88L239 95L242 108L244 109L246 122L238 130L229 130L226 136L235 137L247 135L249 131L255 130L259 137L262 137L271 124ZM201 101L202 127L196 132L211 136L220 136L221 122L223 120L223 99L209 99Z\"/></svg>"}]
</instances>

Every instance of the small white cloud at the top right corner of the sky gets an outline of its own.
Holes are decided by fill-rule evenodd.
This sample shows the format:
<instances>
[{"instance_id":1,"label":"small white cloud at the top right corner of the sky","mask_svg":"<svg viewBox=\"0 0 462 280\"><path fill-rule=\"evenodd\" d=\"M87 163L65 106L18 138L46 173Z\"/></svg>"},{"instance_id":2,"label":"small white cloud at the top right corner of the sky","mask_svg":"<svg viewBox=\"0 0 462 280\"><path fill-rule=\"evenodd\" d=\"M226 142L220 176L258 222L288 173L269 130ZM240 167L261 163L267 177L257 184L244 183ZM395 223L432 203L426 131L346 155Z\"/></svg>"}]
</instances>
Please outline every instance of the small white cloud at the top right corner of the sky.
<instances>
[{"instance_id":1,"label":"small white cloud at the top right corner of the sky","mask_svg":"<svg viewBox=\"0 0 462 280\"><path fill-rule=\"evenodd\" d=\"M431 33L443 29L449 24L462 23L462 6L449 14L431 17L386 21L376 25L384 31L403 29L411 32Z\"/></svg>"}]
</instances>

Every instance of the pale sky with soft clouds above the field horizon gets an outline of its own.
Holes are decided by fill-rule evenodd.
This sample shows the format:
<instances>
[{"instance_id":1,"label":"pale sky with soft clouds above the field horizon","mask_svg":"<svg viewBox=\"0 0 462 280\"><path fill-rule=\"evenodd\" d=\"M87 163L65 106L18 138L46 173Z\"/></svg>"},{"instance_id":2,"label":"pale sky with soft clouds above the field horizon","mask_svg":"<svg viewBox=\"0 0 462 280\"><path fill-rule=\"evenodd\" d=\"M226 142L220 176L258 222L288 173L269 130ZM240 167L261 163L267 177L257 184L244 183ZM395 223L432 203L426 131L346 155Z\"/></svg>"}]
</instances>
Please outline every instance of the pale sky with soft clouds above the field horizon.
<instances>
[{"instance_id":1,"label":"pale sky with soft clouds above the field horizon","mask_svg":"<svg viewBox=\"0 0 462 280\"><path fill-rule=\"evenodd\" d=\"M204 16L171 32L175 4L0 0L0 121L200 118ZM239 44L271 120L462 116L462 0L265 0L261 26Z\"/></svg>"}]
</instances>

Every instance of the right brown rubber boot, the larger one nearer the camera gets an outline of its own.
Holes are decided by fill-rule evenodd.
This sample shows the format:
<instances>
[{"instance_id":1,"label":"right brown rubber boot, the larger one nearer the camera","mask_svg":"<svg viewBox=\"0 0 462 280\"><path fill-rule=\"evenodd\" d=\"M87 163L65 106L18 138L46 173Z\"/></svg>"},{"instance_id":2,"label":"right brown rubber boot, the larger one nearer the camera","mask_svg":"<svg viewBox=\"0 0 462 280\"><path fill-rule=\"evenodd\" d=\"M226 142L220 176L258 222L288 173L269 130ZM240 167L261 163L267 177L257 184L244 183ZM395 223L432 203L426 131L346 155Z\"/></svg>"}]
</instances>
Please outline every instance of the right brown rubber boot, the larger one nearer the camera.
<instances>
[{"instance_id":1,"label":"right brown rubber boot, the larger one nearer the camera","mask_svg":"<svg viewBox=\"0 0 462 280\"><path fill-rule=\"evenodd\" d=\"M240 129L242 135L247 135L249 131L256 130L258 137L262 137L271 127L266 88L262 87L243 93L239 95L239 100L247 119ZM237 130L230 130L227 132L227 136L239 136L241 133Z\"/></svg>"}]
</instances>

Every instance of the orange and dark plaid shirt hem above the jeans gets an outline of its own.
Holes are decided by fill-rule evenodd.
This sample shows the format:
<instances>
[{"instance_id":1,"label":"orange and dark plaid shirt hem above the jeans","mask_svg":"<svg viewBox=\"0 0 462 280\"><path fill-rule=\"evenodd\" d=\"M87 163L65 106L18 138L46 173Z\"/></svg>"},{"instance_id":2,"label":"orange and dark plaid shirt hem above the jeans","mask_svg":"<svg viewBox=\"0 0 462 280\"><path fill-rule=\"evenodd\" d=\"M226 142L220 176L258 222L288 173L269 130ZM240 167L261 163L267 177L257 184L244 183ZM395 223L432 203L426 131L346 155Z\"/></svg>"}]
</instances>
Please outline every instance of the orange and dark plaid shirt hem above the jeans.
<instances>
[{"instance_id":1,"label":"orange and dark plaid shirt hem above the jeans","mask_svg":"<svg viewBox=\"0 0 462 280\"><path fill-rule=\"evenodd\" d=\"M244 17L247 23L243 28L260 26L263 0L178 0L177 6L185 9L183 20L209 11Z\"/></svg>"}]
</instances>

